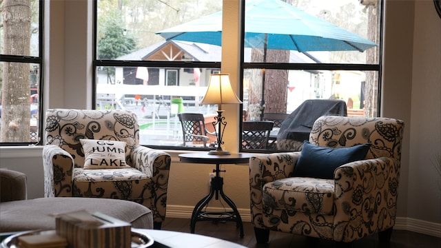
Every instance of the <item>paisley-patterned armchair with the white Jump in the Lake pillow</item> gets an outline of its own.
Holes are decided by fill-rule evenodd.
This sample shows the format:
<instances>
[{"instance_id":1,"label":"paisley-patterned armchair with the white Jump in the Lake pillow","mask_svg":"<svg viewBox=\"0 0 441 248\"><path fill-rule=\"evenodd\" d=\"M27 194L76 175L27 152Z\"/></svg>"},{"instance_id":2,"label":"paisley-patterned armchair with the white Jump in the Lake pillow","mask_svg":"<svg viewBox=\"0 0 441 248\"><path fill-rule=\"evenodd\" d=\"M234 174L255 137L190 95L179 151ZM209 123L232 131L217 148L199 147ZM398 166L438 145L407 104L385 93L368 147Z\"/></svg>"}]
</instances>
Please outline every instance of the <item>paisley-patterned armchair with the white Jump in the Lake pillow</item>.
<instances>
[{"instance_id":1,"label":"paisley-patterned armchair with the white Jump in the Lake pillow","mask_svg":"<svg viewBox=\"0 0 441 248\"><path fill-rule=\"evenodd\" d=\"M45 197L131 200L151 209L154 228L161 229L170 161L169 154L139 145L139 124L133 112L46 112Z\"/></svg>"}]
</instances>

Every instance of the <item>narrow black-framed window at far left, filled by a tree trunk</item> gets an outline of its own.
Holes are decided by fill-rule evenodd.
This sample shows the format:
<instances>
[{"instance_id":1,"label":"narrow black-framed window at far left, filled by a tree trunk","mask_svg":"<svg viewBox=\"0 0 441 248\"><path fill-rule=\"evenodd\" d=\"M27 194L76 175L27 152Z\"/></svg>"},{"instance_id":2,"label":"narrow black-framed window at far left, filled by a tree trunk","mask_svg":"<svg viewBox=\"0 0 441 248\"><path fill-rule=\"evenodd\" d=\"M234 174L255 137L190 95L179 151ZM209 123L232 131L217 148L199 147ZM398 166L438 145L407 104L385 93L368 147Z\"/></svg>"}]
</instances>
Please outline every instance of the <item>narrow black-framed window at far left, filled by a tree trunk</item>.
<instances>
[{"instance_id":1,"label":"narrow black-framed window at far left, filled by a tree trunk","mask_svg":"<svg viewBox=\"0 0 441 248\"><path fill-rule=\"evenodd\" d=\"M39 143L43 1L0 1L0 143Z\"/></svg>"}]
</instances>

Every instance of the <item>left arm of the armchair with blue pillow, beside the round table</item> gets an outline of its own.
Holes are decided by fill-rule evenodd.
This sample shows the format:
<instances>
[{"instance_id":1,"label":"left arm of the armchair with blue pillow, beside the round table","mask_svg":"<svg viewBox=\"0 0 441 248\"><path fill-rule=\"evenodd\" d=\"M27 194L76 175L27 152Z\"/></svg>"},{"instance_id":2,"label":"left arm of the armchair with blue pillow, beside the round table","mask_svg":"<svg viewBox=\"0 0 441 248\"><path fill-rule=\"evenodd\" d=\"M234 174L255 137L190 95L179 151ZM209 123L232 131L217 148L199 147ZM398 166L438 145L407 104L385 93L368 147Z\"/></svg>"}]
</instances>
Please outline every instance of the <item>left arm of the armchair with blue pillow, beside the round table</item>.
<instances>
[{"instance_id":1,"label":"left arm of the armchair with blue pillow, beside the round table","mask_svg":"<svg viewBox=\"0 0 441 248\"><path fill-rule=\"evenodd\" d=\"M260 226L258 219L263 213L263 185L281 178L291 177L300 152L259 154L249 159L249 189L252 223Z\"/></svg>"}]
</instances>

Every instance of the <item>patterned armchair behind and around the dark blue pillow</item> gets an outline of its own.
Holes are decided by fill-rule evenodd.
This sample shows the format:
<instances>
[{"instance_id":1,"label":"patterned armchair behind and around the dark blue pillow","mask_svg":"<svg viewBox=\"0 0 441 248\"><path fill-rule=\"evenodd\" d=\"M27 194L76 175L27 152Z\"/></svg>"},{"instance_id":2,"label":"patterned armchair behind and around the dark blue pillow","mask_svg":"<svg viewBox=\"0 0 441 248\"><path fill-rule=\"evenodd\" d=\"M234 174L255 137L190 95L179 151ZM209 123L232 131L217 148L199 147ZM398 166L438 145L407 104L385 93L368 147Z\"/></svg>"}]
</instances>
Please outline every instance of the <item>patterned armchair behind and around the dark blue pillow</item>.
<instances>
[{"instance_id":1,"label":"patterned armchair behind and around the dark blue pillow","mask_svg":"<svg viewBox=\"0 0 441 248\"><path fill-rule=\"evenodd\" d=\"M381 241L389 241L396 220L403 128L404 123L393 118L318 118L309 135L311 144L371 143L364 160L337 167L331 179L295 177L301 152L252 157L249 182L256 240L267 242L273 230L345 243L379 233Z\"/></svg>"}]
</instances>

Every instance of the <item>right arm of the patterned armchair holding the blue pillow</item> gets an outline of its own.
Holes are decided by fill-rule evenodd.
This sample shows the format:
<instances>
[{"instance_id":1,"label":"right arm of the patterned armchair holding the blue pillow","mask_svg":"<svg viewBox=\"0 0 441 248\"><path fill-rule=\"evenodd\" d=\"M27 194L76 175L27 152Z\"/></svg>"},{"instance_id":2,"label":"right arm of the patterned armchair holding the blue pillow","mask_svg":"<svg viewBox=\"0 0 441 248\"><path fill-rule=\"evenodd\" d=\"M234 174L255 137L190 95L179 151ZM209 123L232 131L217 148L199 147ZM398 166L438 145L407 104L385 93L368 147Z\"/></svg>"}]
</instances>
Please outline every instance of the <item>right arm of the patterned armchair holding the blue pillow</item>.
<instances>
[{"instance_id":1,"label":"right arm of the patterned armchair holding the blue pillow","mask_svg":"<svg viewBox=\"0 0 441 248\"><path fill-rule=\"evenodd\" d=\"M395 225L400 161L373 158L334 172L334 240L365 236Z\"/></svg>"}]
</instances>

